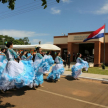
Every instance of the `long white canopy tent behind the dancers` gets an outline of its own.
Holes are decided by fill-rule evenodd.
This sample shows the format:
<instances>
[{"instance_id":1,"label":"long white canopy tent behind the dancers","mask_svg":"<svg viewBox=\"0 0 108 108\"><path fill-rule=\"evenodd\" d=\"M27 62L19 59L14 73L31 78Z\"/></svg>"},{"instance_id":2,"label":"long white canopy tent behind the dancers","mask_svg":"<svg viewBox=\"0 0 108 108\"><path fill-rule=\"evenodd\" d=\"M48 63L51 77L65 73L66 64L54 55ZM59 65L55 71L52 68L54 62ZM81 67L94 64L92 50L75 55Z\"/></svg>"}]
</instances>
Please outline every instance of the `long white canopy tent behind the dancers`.
<instances>
[{"instance_id":1,"label":"long white canopy tent behind the dancers","mask_svg":"<svg viewBox=\"0 0 108 108\"><path fill-rule=\"evenodd\" d=\"M36 47L41 47L42 50L59 51L59 47L53 44L40 44L40 45L13 45L13 49L26 49L34 50Z\"/></svg>"}]
</instances>

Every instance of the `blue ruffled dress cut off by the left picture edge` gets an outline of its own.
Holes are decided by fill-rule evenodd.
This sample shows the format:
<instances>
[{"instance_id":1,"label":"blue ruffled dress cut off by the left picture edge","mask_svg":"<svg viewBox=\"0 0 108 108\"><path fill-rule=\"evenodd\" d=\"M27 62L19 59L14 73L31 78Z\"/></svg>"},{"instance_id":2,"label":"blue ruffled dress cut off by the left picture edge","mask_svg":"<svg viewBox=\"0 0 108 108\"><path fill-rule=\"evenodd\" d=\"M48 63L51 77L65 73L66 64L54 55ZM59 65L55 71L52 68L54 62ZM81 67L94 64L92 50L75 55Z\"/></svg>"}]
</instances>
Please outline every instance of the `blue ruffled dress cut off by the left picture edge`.
<instances>
[{"instance_id":1,"label":"blue ruffled dress cut off by the left picture edge","mask_svg":"<svg viewBox=\"0 0 108 108\"><path fill-rule=\"evenodd\" d=\"M0 53L0 54L4 54L4 53ZM5 55L0 55L0 76L5 68L7 64L7 59Z\"/></svg>"}]
</instances>

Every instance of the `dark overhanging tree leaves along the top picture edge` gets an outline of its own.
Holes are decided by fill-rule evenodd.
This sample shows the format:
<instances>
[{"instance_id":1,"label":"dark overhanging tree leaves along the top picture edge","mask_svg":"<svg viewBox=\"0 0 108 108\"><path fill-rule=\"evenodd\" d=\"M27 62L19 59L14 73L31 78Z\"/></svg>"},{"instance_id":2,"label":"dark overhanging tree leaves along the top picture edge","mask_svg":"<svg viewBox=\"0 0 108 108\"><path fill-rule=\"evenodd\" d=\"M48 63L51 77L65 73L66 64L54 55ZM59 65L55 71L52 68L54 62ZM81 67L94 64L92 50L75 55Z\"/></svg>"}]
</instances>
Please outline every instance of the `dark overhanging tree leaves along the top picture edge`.
<instances>
[{"instance_id":1,"label":"dark overhanging tree leaves along the top picture edge","mask_svg":"<svg viewBox=\"0 0 108 108\"><path fill-rule=\"evenodd\" d=\"M0 2L4 3L8 3L8 8L11 10L14 10L15 7L15 1L16 0L0 0ZM35 0L36 1L36 0ZM42 6L44 6L44 9L47 7L47 0L41 0L42 1ZM60 2L60 0L56 0L57 3Z\"/></svg>"}]
</instances>

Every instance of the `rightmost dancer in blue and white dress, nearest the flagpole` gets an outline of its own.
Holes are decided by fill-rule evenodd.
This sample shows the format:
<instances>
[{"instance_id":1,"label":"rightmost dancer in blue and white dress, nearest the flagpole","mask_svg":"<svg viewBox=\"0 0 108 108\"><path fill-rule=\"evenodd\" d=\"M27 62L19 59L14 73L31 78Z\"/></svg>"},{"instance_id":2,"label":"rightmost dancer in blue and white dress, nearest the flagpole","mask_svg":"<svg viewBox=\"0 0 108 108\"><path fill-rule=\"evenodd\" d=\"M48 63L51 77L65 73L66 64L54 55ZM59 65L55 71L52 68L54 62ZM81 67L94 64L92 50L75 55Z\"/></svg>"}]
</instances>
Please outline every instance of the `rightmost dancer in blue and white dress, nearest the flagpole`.
<instances>
[{"instance_id":1,"label":"rightmost dancer in blue and white dress, nearest the flagpole","mask_svg":"<svg viewBox=\"0 0 108 108\"><path fill-rule=\"evenodd\" d=\"M83 68L85 68L86 71L88 71L89 68L89 64L82 60L81 56L82 55L78 53L77 63L72 67L72 77L76 80L78 80L78 76L81 75Z\"/></svg>"}]
</instances>

